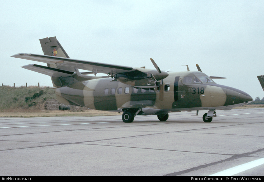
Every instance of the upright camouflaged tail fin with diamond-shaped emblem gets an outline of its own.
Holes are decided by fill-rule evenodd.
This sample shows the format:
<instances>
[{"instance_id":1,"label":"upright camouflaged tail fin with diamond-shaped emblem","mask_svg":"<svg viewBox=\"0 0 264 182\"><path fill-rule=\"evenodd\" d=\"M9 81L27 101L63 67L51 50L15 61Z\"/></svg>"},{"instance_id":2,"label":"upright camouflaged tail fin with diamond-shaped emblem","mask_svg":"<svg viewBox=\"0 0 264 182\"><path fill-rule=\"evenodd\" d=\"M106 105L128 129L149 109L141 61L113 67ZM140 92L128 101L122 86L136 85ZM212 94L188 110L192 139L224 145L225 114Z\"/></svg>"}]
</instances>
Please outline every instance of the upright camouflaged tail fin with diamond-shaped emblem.
<instances>
[{"instance_id":1,"label":"upright camouflaged tail fin with diamond-shaped emblem","mask_svg":"<svg viewBox=\"0 0 264 182\"><path fill-rule=\"evenodd\" d=\"M62 45L60 45L56 37L49 37L49 38L47 37L44 39L39 39L39 41L40 41L40 45L41 45L44 55L70 58L68 54L65 52L65 50L63 49ZM72 67L60 66L57 63L47 63L47 66L51 68L56 68L56 69L58 68L58 69L66 70L66 71L76 72ZM58 77L51 76L51 81L52 81L53 87L62 86Z\"/></svg>"}]
</instances>

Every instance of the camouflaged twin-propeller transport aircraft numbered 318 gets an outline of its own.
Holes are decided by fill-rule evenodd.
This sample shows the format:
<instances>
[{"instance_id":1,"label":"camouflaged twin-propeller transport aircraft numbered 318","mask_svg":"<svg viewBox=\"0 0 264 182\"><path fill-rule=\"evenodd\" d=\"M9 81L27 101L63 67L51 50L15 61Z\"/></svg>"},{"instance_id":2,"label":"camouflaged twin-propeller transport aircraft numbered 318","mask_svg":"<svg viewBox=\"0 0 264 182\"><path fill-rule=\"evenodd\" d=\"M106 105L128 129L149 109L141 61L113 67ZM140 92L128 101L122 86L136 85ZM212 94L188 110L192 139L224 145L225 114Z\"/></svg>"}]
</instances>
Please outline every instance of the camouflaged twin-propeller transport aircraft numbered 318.
<instances>
[{"instance_id":1,"label":"camouflaged twin-propeller transport aircraft numbered 318","mask_svg":"<svg viewBox=\"0 0 264 182\"><path fill-rule=\"evenodd\" d=\"M216 117L215 110L231 110L248 104L252 97L228 86L218 85L198 65L198 71L161 71L114 64L70 59L56 37L40 39L44 55L20 53L14 58L47 63L47 66L23 66L51 76L59 102L90 109L122 111L125 123L133 122L136 115L157 115L166 121L175 111L207 110L204 122ZM79 72L79 69L89 72ZM96 76L105 73L107 76ZM94 74L89 76L87 74Z\"/></svg>"}]
</instances>

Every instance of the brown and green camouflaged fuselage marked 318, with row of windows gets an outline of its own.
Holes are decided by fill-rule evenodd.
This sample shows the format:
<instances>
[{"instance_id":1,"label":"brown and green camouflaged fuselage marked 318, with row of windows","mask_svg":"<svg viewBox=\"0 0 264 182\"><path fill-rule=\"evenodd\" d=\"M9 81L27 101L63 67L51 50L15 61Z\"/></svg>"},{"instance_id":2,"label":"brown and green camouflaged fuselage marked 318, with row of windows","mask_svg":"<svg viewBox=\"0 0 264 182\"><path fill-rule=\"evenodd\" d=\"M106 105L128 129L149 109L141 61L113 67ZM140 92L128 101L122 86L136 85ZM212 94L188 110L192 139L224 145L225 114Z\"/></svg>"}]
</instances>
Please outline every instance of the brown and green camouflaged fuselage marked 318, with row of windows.
<instances>
[{"instance_id":1,"label":"brown and green camouflaged fuselage marked 318, with row of windows","mask_svg":"<svg viewBox=\"0 0 264 182\"><path fill-rule=\"evenodd\" d=\"M198 71L170 73L163 80L162 93L158 88L135 88L115 78L98 78L56 88L55 93L58 101L65 105L106 111L142 108L138 115L182 110L230 110L252 101L252 97L241 90L205 78L208 76Z\"/></svg>"}]
</instances>

